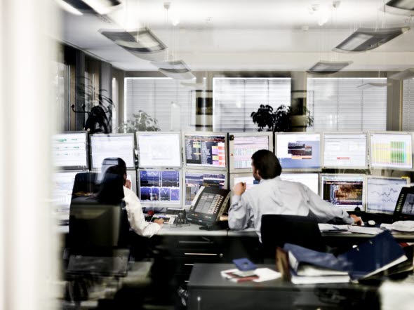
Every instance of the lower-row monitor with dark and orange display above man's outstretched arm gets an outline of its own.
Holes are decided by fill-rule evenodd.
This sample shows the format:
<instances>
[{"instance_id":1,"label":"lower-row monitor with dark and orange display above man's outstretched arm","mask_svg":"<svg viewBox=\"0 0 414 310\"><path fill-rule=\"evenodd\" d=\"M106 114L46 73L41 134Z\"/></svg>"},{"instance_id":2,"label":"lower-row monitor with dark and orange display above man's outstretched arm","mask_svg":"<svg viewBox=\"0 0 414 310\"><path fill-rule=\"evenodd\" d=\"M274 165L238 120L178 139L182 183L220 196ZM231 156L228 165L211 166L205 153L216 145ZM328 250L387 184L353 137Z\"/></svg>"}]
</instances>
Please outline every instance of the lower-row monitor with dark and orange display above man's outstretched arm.
<instances>
[{"instance_id":1,"label":"lower-row monitor with dark and orange display above man's outstretched arm","mask_svg":"<svg viewBox=\"0 0 414 310\"><path fill-rule=\"evenodd\" d=\"M321 175L321 197L347 211L363 210L365 175Z\"/></svg>"}]
</instances>

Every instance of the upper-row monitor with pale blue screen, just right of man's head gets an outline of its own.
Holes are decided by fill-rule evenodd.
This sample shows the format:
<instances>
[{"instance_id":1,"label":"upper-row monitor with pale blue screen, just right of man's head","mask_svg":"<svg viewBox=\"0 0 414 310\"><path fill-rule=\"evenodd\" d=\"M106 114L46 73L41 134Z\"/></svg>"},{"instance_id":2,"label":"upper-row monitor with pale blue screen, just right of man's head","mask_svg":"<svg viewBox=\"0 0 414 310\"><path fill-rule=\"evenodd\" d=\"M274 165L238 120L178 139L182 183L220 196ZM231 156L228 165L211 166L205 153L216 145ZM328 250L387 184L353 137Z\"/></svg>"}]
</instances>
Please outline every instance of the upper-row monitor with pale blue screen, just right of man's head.
<instances>
[{"instance_id":1,"label":"upper-row monitor with pale blue screen, just right of man's head","mask_svg":"<svg viewBox=\"0 0 414 310\"><path fill-rule=\"evenodd\" d=\"M275 153L283 170L320 171L320 133L276 133Z\"/></svg>"}]
</instances>

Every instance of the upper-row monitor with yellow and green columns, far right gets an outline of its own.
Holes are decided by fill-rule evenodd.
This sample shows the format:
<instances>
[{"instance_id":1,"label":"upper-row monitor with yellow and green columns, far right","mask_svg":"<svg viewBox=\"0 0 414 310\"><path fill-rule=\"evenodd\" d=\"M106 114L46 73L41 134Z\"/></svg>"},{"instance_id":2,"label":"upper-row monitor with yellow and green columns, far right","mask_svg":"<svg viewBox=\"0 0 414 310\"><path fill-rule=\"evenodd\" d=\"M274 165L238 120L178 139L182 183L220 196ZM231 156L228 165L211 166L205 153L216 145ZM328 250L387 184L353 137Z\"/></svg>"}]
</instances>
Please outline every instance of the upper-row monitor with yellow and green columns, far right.
<instances>
[{"instance_id":1,"label":"upper-row monitor with yellow and green columns, far right","mask_svg":"<svg viewBox=\"0 0 414 310\"><path fill-rule=\"evenodd\" d=\"M413 169L413 135L403 132L369 133L370 168Z\"/></svg>"}]
</instances>

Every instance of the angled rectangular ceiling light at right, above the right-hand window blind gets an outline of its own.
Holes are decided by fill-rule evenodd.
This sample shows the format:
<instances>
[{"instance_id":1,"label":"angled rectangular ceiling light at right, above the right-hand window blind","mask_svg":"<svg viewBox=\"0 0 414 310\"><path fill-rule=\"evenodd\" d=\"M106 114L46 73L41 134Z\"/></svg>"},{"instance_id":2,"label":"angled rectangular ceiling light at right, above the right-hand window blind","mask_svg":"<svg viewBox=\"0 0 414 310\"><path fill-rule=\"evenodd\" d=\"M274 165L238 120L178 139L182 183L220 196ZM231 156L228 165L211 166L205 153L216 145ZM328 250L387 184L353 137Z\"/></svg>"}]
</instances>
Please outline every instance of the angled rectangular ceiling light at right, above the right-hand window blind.
<instances>
[{"instance_id":1,"label":"angled rectangular ceiling light at right, above the right-hand window blind","mask_svg":"<svg viewBox=\"0 0 414 310\"><path fill-rule=\"evenodd\" d=\"M359 28L348 36L345 41L342 41L333 50L342 53L349 52L363 52L366 50L373 50L382 46L382 44L394 39L396 36L407 32L409 27L394 27L394 28Z\"/></svg>"}]
</instances>

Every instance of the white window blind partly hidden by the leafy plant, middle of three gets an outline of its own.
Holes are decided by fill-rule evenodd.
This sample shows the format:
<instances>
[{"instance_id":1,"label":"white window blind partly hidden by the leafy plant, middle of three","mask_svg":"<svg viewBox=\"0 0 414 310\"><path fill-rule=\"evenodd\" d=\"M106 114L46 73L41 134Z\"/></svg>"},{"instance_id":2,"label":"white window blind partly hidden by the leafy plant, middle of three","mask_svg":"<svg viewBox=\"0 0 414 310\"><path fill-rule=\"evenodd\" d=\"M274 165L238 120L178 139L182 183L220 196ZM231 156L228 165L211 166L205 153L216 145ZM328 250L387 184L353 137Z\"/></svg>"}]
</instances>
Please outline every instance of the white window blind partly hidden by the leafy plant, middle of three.
<instances>
[{"instance_id":1,"label":"white window blind partly hidden by the leafy plant, middle of three","mask_svg":"<svg viewBox=\"0 0 414 310\"><path fill-rule=\"evenodd\" d=\"M213 78L213 130L256 131L260 105L291 105L291 78Z\"/></svg>"}]
</instances>

